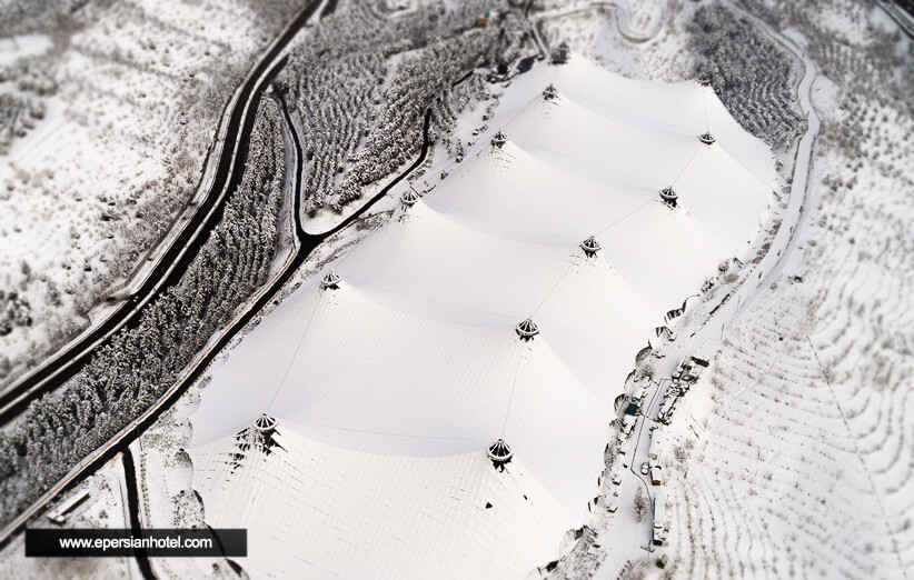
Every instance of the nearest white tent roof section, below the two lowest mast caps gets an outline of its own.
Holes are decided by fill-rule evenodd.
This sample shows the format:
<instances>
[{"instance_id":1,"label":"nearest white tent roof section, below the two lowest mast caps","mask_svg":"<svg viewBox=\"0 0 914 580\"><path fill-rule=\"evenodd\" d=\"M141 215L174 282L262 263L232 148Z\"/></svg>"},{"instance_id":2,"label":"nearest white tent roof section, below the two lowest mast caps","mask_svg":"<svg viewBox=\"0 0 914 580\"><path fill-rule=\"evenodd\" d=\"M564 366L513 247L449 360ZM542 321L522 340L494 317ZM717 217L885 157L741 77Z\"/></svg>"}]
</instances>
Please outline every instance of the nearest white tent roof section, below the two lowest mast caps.
<instances>
[{"instance_id":1,"label":"nearest white tent roof section, below the two lowest mast caps","mask_svg":"<svg viewBox=\"0 0 914 580\"><path fill-rule=\"evenodd\" d=\"M481 450L378 456L280 427L268 451L242 438L193 457L207 522L248 529L252 577L519 578L582 524L521 459L499 471Z\"/></svg>"}]
</instances>

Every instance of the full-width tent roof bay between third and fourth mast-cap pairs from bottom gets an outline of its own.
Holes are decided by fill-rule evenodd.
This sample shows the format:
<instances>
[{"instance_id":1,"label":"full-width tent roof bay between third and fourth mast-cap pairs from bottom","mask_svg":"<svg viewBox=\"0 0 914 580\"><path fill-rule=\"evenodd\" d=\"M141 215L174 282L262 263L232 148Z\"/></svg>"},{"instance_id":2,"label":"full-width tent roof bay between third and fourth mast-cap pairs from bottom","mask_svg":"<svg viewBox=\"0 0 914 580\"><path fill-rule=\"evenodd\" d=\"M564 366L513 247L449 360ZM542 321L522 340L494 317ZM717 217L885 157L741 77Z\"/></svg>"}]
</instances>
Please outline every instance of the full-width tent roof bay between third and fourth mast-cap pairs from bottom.
<instances>
[{"instance_id":1,"label":"full-width tent roof bay between third and fourth mast-cap pairs from bottom","mask_svg":"<svg viewBox=\"0 0 914 580\"><path fill-rule=\"evenodd\" d=\"M717 188L699 188L696 178L677 183L678 203L670 209L660 200L662 188L607 184L539 159L515 141L498 150L479 151L464 161L460 172L427 194L424 203L461 224L511 240L577 246L594 236L603 258L652 313L682 303L714 274L721 261L739 252L741 240L748 241L757 229L769 193L759 188L754 194L745 189L733 191L719 196L714 207L702 196L714 194ZM706 181L713 179L708 176ZM748 177L747 183L757 181ZM728 210L729 219L723 219ZM735 223L743 226L744 233Z\"/></svg>"}]
</instances>

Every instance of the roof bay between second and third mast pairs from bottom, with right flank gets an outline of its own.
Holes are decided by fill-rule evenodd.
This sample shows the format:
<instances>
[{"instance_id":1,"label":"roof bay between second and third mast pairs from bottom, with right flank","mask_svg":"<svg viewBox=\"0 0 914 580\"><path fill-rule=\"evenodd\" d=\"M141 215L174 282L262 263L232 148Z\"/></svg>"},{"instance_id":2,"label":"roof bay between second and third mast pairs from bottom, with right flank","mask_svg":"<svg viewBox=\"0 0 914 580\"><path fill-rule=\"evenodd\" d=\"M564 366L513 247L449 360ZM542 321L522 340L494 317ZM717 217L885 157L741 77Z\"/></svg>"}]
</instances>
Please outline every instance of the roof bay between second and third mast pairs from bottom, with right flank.
<instances>
[{"instance_id":1,"label":"roof bay between second and third mast pairs from bottom, with right flank","mask_svg":"<svg viewBox=\"0 0 914 580\"><path fill-rule=\"evenodd\" d=\"M418 203L359 244L339 271L375 299L423 317L503 326L533 317L608 406L617 392L607 384L622 383L662 312L652 314L605 257L588 258L583 241L505 240ZM618 358L602 356L607 343Z\"/></svg>"}]
</instances>

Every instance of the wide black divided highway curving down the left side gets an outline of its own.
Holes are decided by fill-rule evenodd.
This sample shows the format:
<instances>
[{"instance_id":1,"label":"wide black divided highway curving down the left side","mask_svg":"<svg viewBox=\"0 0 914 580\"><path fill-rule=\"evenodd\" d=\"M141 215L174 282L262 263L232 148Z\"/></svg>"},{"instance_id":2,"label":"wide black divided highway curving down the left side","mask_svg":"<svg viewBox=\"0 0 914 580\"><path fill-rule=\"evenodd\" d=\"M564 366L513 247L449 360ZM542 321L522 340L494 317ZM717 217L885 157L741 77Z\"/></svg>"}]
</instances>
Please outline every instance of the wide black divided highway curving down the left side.
<instances>
[{"instance_id":1,"label":"wide black divided highway curving down the left side","mask_svg":"<svg viewBox=\"0 0 914 580\"><path fill-rule=\"evenodd\" d=\"M299 12L248 74L238 91L238 98L235 100L226 129L225 143L234 143L234 147L222 147L209 193L178 237L162 253L158 266L149 272L132 298L121 304L105 322L54 353L46 364L0 394L0 426L19 417L31 401L52 391L76 374L89 362L97 347L121 328L135 327L140 320L143 306L150 303L181 279L187 267L197 257L200 247L209 238L209 232L221 221L227 193L241 180L248 137L254 128L257 106L265 88L285 64L285 58L278 61L277 58L319 6L320 0L314 0Z\"/></svg>"}]
</instances>

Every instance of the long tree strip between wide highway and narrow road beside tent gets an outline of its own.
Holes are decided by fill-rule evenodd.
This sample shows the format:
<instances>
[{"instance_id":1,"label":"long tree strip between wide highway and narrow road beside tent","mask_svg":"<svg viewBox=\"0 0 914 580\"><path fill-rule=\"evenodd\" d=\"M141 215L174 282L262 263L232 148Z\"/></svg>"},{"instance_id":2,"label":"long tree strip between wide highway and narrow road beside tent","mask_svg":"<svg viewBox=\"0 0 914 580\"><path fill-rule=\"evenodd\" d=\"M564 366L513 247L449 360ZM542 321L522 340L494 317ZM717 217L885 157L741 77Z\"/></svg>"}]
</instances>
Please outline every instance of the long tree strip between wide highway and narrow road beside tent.
<instances>
[{"instance_id":1,"label":"long tree strip between wide highway and narrow road beside tent","mask_svg":"<svg viewBox=\"0 0 914 580\"><path fill-rule=\"evenodd\" d=\"M0 519L9 521L146 411L267 279L277 244L285 151L281 114L262 102L242 182L181 281L118 332L58 392L0 434Z\"/></svg>"}]
</instances>

